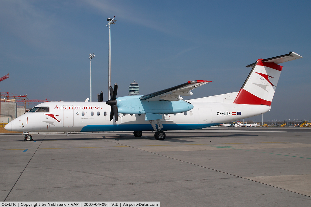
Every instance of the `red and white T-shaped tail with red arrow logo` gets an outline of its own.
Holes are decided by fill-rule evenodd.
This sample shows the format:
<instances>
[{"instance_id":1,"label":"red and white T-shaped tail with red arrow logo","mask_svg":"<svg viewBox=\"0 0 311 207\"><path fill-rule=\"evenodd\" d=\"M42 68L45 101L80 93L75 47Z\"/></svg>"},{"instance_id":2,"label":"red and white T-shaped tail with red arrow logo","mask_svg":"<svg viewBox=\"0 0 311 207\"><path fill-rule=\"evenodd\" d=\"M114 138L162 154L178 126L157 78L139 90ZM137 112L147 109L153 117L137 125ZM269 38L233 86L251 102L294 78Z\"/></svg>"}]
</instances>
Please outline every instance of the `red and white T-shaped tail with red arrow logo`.
<instances>
[{"instance_id":1,"label":"red and white T-shaped tail with red arrow logo","mask_svg":"<svg viewBox=\"0 0 311 207\"><path fill-rule=\"evenodd\" d=\"M302 56L290 52L268 59L258 59L255 63L247 65L246 67L253 66L253 69L233 103L270 106L282 71L282 66L278 64L299 58Z\"/></svg>"}]
</instances>

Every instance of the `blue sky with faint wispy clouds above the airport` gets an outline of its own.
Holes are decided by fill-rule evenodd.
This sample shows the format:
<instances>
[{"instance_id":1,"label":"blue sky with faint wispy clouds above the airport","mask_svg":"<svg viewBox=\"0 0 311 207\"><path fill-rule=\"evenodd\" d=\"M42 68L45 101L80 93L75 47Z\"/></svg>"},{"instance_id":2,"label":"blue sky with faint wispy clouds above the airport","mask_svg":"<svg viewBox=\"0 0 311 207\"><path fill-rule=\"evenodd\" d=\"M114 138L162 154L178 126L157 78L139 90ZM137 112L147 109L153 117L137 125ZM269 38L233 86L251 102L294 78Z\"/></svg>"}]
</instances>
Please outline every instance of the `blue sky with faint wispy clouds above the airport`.
<instances>
[{"instance_id":1,"label":"blue sky with faint wispy clouds above the airport","mask_svg":"<svg viewBox=\"0 0 311 207\"><path fill-rule=\"evenodd\" d=\"M191 98L239 91L259 58L290 51L264 120L311 119L309 1L0 1L1 93L29 99L108 97L108 17L112 83L126 96L189 80L211 80ZM34 105L32 105L34 106ZM31 107L31 106L30 106ZM261 117L254 117L253 120Z\"/></svg>"}]
</instances>

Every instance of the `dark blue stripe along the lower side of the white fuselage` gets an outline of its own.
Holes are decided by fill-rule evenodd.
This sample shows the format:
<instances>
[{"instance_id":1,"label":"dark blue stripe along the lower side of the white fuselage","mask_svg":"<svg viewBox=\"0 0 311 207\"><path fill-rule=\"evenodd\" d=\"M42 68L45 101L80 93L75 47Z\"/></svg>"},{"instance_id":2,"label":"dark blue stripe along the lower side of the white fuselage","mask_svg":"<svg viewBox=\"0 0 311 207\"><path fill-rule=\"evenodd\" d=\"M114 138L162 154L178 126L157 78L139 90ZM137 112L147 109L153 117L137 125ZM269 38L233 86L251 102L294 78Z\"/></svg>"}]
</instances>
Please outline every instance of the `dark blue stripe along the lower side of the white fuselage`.
<instances>
[{"instance_id":1,"label":"dark blue stripe along the lower side of the white fuselage","mask_svg":"<svg viewBox=\"0 0 311 207\"><path fill-rule=\"evenodd\" d=\"M161 130L202 129L218 124L162 124ZM151 124L98 124L87 125L81 132L112 132L112 131L153 131Z\"/></svg>"}]
</instances>

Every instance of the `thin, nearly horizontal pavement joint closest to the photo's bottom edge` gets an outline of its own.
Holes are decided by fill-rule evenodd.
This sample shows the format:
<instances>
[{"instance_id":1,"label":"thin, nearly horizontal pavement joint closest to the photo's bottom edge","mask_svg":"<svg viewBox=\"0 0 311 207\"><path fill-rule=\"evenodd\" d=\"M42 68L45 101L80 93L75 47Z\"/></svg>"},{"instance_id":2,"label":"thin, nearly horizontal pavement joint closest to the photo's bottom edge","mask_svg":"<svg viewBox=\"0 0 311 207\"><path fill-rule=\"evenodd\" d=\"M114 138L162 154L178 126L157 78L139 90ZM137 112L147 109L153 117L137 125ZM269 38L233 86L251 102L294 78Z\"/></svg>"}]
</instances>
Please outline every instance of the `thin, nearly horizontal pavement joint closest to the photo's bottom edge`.
<instances>
[{"instance_id":1,"label":"thin, nearly horizontal pavement joint closest to the photo's bottom edge","mask_svg":"<svg viewBox=\"0 0 311 207\"><path fill-rule=\"evenodd\" d=\"M234 177L238 178L238 177ZM220 180L220 179L232 179L232 178L211 178L211 179L197 179L197 180L169 180L169 181L158 181L158 182L130 182L130 183L117 183L117 184L102 184L102 185L83 185L83 186L62 186L62 187L43 187L43 188L23 188L16 189L14 191L20 190L34 190L34 189L49 189L49 188L66 188L66 187L91 187L91 186L113 186L113 185L132 185L132 184L148 184L148 183L163 183L163 182L187 182L187 181L204 181L204 180ZM253 181L253 180L252 180ZM7 190L0 190L7 191Z\"/></svg>"}]
</instances>

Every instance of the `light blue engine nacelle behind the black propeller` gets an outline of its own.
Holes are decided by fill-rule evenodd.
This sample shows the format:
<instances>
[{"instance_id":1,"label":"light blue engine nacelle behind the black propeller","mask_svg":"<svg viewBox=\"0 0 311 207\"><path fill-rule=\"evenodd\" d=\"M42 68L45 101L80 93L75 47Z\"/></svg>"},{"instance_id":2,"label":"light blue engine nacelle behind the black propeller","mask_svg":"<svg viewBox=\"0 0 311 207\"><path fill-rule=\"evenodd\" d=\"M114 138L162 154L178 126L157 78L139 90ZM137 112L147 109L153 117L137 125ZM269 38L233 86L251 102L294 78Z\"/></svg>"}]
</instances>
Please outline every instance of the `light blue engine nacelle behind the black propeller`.
<instances>
[{"instance_id":1,"label":"light blue engine nacelle behind the black propeller","mask_svg":"<svg viewBox=\"0 0 311 207\"><path fill-rule=\"evenodd\" d=\"M176 114L193 109L193 105L180 101L143 101L141 96L117 98L118 113L121 114Z\"/></svg>"}]
</instances>

